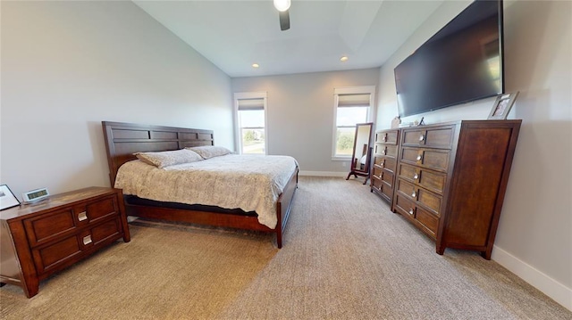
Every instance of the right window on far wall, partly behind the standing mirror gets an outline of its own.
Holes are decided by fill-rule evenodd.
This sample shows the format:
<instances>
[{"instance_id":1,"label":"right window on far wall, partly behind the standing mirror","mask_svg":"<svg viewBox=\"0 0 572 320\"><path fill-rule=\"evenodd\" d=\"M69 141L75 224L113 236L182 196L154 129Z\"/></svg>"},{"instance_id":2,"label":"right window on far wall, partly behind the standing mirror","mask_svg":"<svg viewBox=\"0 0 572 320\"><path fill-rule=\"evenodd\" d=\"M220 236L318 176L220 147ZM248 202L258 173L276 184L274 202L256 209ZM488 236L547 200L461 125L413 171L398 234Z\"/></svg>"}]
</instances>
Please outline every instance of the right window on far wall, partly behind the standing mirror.
<instances>
[{"instance_id":1,"label":"right window on far wall, partly behind the standing mirror","mask_svg":"<svg viewBox=\"0 0 572 320\"><path fill-rule=\"evenodd\" d=\"M372 119L375 86L334 89L332 160L348 160L354 148L356 124Z\"/></svg>"}]
</instances>

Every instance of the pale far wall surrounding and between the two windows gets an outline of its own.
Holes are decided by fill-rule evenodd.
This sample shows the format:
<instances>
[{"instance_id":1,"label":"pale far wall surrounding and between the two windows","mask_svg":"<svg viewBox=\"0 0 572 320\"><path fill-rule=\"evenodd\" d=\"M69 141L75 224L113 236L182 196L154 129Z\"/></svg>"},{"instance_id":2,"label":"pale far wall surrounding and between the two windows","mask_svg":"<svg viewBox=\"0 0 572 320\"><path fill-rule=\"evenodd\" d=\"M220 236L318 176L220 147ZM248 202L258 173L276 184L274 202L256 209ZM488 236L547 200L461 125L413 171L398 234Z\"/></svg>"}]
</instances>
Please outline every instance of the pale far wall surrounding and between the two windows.
<instances>
[{"instance_id":1,"label":"pale far wall surrounding and between the two windows","mask_svg":"<svg viewBox=\"0 0 572 320\"><path fill-rule=\"evenodd\" d=\"M232 78L232 92L261 92L267 99L268 154L287 154L312 175L349 172L349 161L332 160L333 89L375 86L379 68ZM345 165L345 167L343 166Z\"/></svg>"}]
</instances>

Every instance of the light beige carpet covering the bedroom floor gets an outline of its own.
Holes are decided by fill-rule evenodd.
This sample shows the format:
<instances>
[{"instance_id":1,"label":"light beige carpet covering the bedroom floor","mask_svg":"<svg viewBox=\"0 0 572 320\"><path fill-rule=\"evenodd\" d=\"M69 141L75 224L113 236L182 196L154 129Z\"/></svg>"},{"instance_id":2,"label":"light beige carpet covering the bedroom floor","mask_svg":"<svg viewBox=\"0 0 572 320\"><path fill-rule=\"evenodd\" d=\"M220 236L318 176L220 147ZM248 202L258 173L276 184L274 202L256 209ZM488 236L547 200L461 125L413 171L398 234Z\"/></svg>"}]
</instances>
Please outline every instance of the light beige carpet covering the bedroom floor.
<instances>
[{"instance_id":1,"label":"light beige carpet covering the bedroom floor","mask_svg":"<svg viewBox=\"0 0 572 320\"><path fill-rule=\"evenodd\" d=\"M4 319L572 319L475 252L434 242L369 187L299 179L273 236L156 222L40 283L0 288Z\"/></svg>"}]
</instances>

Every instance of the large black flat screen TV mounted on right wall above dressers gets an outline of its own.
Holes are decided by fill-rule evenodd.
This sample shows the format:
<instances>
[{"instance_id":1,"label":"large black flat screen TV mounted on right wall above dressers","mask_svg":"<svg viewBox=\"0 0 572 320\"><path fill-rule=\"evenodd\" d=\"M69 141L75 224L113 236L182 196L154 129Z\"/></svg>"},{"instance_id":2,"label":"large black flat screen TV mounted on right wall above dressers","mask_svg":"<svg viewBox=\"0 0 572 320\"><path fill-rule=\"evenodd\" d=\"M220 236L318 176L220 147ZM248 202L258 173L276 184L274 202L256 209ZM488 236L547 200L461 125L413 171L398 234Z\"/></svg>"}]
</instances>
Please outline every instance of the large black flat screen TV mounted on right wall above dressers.
<instances>
[{"instance_id":1,"label":"large black flat screen TV mounted on right wall above dressers","mask_svg":"<svg viewBox=\"0 0 572 320\"><path fill-rule=\"evenodd\" d=\"M504 93L502 0L476 0L394 70L400 117Z\"/></svg>"}]
</instances>

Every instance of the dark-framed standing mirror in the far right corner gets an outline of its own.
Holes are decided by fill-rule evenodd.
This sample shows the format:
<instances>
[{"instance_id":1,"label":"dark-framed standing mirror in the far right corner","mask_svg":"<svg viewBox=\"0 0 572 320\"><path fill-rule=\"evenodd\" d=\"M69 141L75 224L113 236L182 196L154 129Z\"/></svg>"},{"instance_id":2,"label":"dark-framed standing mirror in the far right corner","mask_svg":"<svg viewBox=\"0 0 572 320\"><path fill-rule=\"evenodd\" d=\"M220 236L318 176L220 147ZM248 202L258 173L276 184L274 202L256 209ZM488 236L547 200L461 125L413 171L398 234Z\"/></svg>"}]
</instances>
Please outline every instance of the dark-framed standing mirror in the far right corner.
<instances>
[{"instance_id":1,"label":"dark-framed standing mirror in the far right corner","mask_svg":"<svg viewBox=\"0 0 572 320\"><path fill-rule=\"evenodd\" d=\"M349 169L348 177L346 180L349 179L349 176L366 176L366 180L364 181L364 185L367 183L367 179L369 179L369 168L372 148L370 146L370 142L372 140L372 129L374 127L374 123L358 123L356 125L356 137L354 139L354 152L352 152L351 156L351 167Z\"/></svg>"}]
</instances>

